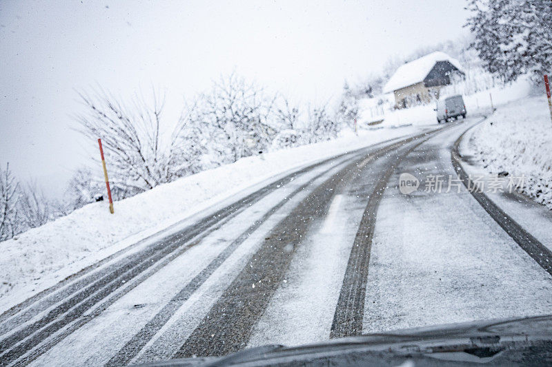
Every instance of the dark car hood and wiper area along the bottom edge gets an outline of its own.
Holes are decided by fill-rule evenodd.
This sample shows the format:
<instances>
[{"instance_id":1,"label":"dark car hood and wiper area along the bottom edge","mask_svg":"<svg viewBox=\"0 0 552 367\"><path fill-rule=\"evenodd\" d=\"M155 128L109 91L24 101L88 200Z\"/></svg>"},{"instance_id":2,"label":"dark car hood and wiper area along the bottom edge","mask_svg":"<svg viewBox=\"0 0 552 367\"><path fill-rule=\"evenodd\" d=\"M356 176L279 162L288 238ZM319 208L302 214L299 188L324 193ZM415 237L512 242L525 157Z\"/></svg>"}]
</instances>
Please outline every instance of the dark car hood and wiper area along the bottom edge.
<instances>
[{"instance_id":1,"label":"dark car hood and wiper area along the bottom edge","mask_svg":"<svg viewBox=\"0 0 552 367\"><path fill-rule=\"evenodd\" d=\"M552 315L412 328L305 346L269 345L222 357L171 359L140 366L473 364L552 364Z\"/></svg>"}]
</instances>

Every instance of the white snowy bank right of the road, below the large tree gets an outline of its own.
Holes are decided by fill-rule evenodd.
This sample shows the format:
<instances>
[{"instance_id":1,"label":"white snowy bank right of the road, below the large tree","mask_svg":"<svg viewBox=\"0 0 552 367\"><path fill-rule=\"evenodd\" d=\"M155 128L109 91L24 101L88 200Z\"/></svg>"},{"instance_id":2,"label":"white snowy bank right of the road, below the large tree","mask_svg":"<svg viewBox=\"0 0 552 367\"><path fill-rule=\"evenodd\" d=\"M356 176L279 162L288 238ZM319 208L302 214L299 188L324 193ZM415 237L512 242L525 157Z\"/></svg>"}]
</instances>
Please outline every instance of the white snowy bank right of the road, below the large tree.
<instances>
[{"instance_id":1,"label":"white snowy bank right of the road, below the large tree","mask_svg":"<svg viewBox=\"0 0 552 367\"><path fill-rule=\"evenodd\" d=\"M546 96L531 96L497 109L469 141L491 174L524 177L522 193L552 209L552 120Z\"/></svg>"}]
</instances>

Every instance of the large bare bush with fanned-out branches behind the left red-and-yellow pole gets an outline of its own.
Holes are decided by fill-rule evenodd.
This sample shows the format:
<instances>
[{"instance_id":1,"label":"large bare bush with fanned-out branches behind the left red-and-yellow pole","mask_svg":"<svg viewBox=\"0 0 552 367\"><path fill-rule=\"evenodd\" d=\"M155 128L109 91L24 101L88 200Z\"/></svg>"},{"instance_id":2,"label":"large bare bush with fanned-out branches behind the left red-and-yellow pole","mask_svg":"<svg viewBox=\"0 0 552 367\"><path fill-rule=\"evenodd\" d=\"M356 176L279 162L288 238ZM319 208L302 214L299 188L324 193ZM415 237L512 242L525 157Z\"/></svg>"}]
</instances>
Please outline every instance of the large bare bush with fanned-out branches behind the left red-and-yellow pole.
<instances>
[{"instance_id":1,"label":"large bare bush with fanned-out branches behind the left red-and-yellow pole","mask_svg":"<svg viewBox=\"0 0 552 367\"><path fill-rule=\"evenodd\" d=\"M183 176L177 160L186 143L181 132L189 114L181 114L170 139L165 141L162 129L165 98L152 93L152 102L143 97L125 104L112 94L100 90L92 95L79 93L88 112L77 116L84 136L101 138L115 186L138 193Z\"/></svg>"}]
</instances>

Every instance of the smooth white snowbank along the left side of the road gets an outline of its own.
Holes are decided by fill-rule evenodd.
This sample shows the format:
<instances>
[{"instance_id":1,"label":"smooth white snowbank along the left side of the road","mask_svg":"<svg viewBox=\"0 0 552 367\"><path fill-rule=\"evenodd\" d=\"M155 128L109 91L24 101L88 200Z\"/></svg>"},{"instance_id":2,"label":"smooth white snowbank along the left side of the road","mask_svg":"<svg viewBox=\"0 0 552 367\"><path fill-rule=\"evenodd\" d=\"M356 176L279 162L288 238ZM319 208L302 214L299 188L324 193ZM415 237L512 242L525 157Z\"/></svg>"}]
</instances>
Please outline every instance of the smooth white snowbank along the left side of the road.
<instances>
[{"instance_id":1,"label":"smooth white snowbank along the left side of the road","mask_svg":"<svg viewBox=\"0 0 552 367\"><path fill-rule=\"evenodd\" d=\"M97 202L1 242L0 312L217 202L243 196L240 191L248 187L324 158L426 128L361 130L358 137L346 132L329 142L244 158L116 202L114 215L109 214L106 202Z\"/></svg>"}]
</instances>

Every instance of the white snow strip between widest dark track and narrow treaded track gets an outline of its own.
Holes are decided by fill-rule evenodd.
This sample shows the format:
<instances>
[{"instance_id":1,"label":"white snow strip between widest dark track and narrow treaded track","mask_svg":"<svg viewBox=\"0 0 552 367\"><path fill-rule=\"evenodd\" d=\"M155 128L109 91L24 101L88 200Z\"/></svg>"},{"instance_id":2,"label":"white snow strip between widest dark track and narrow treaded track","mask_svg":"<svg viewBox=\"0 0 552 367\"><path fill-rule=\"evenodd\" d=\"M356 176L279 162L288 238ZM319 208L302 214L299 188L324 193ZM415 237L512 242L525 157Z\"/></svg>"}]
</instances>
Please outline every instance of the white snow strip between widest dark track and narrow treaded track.
<instances>
[{"instance_id":1,"label":"white snow strip between widest dark track and narrow treaded track","mask_svg":"<svg viewBox=\"0 0 552 367\"><path fill-rule=\"evenodd\" d=\"M364 204L364 205L362 205ZM338 194L324 222L297 249L248 346L313 343L328 338L339 289L366 202Z\"/></svg>"}]
</instances>

